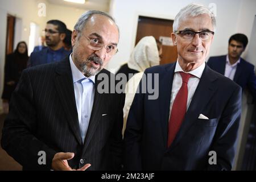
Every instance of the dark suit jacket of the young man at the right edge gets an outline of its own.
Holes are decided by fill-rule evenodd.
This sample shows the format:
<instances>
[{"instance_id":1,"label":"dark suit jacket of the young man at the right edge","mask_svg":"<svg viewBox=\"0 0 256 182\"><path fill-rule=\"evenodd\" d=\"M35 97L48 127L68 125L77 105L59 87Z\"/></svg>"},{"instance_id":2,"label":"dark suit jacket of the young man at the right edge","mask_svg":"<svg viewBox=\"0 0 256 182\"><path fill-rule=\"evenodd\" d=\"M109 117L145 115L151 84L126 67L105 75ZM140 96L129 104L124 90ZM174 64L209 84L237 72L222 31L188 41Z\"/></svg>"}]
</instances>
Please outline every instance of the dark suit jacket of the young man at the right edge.
<instances>
[{"instance_id":1,"label":"dark suit jacket of the young man at the right edge","mask_svg":"<svg viewBox=\"0 0 256 182\"><path fill-rule=\"evenodd\" d=\"M214 71L225 75L226 55L210 57L207 64ZM242 89L245 89L247 86L250 93L253 95L254 100L256 100L256 76L253 64L248 63L241 57L233 81L240 85Z\"/></svg>"}]
</instances>

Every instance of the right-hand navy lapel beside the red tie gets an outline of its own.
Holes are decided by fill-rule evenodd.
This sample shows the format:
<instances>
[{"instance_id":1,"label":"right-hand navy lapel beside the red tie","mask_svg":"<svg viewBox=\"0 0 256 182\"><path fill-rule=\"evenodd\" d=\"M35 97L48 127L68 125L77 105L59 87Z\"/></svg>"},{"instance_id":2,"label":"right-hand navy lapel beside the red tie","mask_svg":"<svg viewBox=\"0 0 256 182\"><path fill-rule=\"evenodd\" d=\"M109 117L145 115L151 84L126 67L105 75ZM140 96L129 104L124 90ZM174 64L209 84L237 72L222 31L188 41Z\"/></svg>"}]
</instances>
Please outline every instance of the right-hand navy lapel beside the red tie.
<instances>
[{"instance_id":1,"label":"right-hand navy lapel beside the red tie","mask_svg":"<svg viewBox=\"0 0 256 182\"><path fill-rule=\"evenodd\" d=\"M209 67L205 65L203 75L201 76L195 94L193 95L191 104L188 107L184 121L181 124L180 130L178 131L169 150L172 150L180 142L183 135L187 133L191 125L196 122L201 114L201 111L207 107L210 98L213 96L213 93L216 90L216 86L214 86L213 82L217 78L212 73L213 72L209 69Z\"/></svg>"}]
</instances>

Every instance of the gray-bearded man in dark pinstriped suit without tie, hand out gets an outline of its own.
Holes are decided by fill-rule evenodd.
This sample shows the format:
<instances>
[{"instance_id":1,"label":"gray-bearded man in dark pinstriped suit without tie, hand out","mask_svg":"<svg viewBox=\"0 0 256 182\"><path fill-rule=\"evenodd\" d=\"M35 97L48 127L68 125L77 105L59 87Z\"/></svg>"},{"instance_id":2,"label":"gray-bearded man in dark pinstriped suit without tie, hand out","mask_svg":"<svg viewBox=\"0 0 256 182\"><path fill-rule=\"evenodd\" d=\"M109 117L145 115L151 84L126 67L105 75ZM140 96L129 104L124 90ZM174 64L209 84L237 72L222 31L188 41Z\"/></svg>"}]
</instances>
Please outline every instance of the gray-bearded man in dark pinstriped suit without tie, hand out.
<instances>
[{"instance_id":1,"label":"gray-bearded man in dark pinstriped suit without tie, hand out","mask_svg":"<svg viewBox=\"0 0 256 182\"><path fill-rule=\"evenodd\" d=\"M26 69L11 100L1 144L23 169L121 166L125 95L102 80L114 77L103 68L117 52L118 27L108 14L87 11L74 29L69 58Z\"/></svg>"}]
</instances>

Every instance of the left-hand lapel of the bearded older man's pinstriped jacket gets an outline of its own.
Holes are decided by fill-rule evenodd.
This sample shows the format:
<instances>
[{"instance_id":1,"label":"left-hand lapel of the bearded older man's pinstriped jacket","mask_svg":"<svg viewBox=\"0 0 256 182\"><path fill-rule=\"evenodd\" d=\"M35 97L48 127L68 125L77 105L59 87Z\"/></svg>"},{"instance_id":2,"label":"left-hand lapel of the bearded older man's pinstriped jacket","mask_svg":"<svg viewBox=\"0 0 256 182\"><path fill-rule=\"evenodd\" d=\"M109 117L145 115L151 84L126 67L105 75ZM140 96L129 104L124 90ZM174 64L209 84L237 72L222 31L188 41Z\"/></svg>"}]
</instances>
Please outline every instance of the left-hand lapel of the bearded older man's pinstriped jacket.
<instances>
[{"instance_id":1,"label":"left-hand lapel of the bearded older man's pinstriped jacket","mask_svg":"<svg viewBox=\"0 0 256 182\"><path fill-rule=\"evenodd\" d=\"M82 144L79 120L77 116L75 93L73 86L72 71L69 64L69 58L61 61L56 69L55 86L60 97L61 105L67 116L69 126L77 141Z\"/></svg>"}]
</instances>

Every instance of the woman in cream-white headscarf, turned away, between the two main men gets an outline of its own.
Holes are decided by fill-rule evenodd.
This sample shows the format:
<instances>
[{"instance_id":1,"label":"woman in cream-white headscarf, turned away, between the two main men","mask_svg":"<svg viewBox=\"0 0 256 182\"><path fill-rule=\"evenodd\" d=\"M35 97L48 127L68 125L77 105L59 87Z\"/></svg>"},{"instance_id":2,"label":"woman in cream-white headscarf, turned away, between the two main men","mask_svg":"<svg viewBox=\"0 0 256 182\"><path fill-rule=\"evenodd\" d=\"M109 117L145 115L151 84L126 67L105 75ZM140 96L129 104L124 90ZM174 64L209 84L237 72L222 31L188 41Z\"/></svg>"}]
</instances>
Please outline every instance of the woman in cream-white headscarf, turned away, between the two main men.
<instances>
[{"instance_id":1,"label":"woman in cream-white headscarf, turned away, between the two main men","mask_svg":"<svg viewBox=\"0 0 256 182\"><path fill-rule=\"evenodd\" d=\"M143 72L147 68L159 65L161 55L162 44L160 42L157 42L157 40L153 36L145 36L144 38L142 38L131 53L130 60L128 61L127 66L130 69L137 71L138 73L135 73L135 75L131 77L126 84L125 106L123 107L122 134L124 134L125 132L127 116L129 114L135 92L139 85L139 81L141 81L141 78L143 76Z\"/></svg>"}]
</instances>

